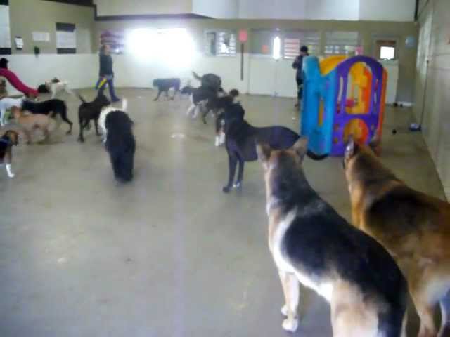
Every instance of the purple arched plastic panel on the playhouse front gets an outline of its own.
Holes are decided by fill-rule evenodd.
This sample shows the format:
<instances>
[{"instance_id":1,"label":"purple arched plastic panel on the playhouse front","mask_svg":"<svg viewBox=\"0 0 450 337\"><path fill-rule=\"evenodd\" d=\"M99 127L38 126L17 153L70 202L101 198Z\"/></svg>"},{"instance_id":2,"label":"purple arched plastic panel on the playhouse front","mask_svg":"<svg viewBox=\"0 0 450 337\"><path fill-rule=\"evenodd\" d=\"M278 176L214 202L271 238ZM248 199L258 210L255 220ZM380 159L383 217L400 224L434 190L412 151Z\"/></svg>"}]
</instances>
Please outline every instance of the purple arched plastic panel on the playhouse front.
<instances>
[{"instance_id":1,"label":"purple arched plastic panel on the playhouse front","mask_svg":"<svg viewBox=\"0 0 450 337\"><path fill-rule=\"evenodd\" d=\"M368 114L347 114L347 112L345 112L349 72L357 62L364 62L372 72L372 93L370 95L371 102L369 103ZM336 67L336 71L338 72L338 79L336 81L337 86L340 86L340 81L342 79L342 95L340 95L340 109L336 111L333 121L333 137L331 138L333 144L331 147L331 155L340 157L345 153L344 128L349 121L361 119L366 123L368 128L368 141L373 138L378 129L378 115L380 114L381 91L383 88L383 65L374 58L360 55L342 61L338 67ZM338 102L336 102L336 104L338 104ZM335 139L338 140L337 143L334 143Z\"/></svg>"}]
</instances>

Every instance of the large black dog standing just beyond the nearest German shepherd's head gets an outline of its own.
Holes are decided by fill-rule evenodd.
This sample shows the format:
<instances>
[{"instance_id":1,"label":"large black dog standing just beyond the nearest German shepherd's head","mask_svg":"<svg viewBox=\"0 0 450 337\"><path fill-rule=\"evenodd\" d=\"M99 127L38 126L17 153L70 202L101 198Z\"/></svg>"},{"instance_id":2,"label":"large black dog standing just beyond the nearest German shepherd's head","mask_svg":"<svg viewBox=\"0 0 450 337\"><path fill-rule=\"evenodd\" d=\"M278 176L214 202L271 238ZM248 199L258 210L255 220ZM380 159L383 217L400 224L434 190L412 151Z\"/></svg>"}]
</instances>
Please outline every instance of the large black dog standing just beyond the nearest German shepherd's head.
<instances>
[{"instance_id":1,"label":"large black dog standing just beyond the nearest German shepherd's head","mask_svg":"<svg viewBox=\"0 0 450 337\"><path fill-rule=\"evenodd\" d=\"M244 162L258 159L256 143L265 143L275 150L285 150L292 147L300 136L284 126L267 126L257 128L244 119L245 110L238 103L225 108L221 117L224 121L226 135L225 147L229 158L229 179L222 188L225 193L231 187L240 187L244 176ZM238 179L233 185L236 166L239 163Z\"/></svg>"}]
</instances>

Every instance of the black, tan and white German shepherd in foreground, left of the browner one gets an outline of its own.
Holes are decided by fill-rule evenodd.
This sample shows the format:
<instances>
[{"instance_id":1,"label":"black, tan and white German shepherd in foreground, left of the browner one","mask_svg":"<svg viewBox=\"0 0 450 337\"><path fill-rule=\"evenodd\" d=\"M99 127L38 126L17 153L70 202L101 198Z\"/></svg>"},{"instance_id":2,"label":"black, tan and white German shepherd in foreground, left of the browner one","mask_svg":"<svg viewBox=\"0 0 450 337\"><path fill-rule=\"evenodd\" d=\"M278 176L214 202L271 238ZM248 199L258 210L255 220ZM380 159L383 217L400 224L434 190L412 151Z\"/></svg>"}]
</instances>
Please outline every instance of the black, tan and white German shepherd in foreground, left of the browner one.
<instances>
[{"instance_id":1,"label":"black, tan and white German shepherd in foreground, left of the browner one","mask_svg":"<svg viewBox=\"0 0 450 337\"><path fill-rule=\"evenodd\" d=\"M328 300L335 337L405 336L407 285L390 254L323 201L304 176L307 138L290 150L257 145L264 167L269 249L295 331L300 283Z\"/></svg>"}]
</instances>

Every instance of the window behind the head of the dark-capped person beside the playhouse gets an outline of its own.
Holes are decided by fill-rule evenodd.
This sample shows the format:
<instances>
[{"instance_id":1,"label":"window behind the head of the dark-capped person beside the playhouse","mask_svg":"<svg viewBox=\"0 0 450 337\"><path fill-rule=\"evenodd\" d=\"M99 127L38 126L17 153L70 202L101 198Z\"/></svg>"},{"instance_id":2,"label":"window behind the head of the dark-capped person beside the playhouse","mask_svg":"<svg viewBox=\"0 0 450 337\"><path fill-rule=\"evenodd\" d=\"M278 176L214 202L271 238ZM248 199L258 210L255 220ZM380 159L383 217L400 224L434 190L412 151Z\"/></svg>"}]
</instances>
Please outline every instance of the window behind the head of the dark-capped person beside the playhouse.
<instances>
[{"instance_id":1,"label":"window behind the head of the dark-capped person beside the playhouse","mask_svg":"<svg viewBox=\"0 0 450 337\"><path fill-rule=\"evenodd\" d=\"M283 57L294 59L300 47L307 46L309 54L318 55L321 36L319 32L285 32L283 39Z\"/></svg>"}]
</instances>

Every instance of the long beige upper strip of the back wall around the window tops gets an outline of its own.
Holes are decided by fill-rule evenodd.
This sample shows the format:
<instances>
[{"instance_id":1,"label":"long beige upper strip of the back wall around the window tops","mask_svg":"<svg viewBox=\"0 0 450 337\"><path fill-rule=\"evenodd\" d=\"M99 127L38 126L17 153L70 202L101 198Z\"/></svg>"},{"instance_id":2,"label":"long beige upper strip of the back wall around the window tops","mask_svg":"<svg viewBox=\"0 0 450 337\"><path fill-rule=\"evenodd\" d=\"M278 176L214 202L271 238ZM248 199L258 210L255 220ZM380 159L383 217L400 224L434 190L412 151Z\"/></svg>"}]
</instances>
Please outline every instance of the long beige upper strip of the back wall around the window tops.
<instances>
[{"instance_id":1,"label":"long beige upper strip of the back wall around the window tops","mask_svg":"<svg viewBox=\"0 0 450 337\"><path fill-rule=\"evenodd\" d=\"M373 36L399 39L399 84L397 100L412 102L417 48L406 48L408 36L417 37L418 28L413 22L330 21L330 20L119 20L98 21L95 39L105 29L130 29L137 27L185 27L195 39L198 50L203 51L204 29L305 29L321 32L349 30L360 33L364 53L373 55ZM249 39L252 39L249 34ZM321 52L324 49L322 39Z\"/></svg>"}]
</instances>

